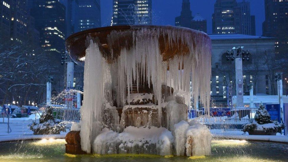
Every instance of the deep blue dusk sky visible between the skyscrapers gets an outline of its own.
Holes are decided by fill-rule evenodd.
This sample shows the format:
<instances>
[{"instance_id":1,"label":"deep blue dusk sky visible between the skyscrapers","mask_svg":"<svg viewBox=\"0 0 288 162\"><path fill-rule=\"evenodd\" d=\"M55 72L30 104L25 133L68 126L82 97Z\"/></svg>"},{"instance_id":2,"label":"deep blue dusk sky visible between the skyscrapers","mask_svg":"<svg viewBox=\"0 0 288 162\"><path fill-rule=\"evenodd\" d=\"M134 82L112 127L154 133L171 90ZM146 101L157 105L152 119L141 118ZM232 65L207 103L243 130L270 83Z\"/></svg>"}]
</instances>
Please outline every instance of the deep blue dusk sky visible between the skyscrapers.
<instances>
[{"instance_id":1,"label":"deep blue dusk sky visible between the skyscrapers","mask_svg":"<svg viewBox=\"0 0 288 162\"><path fill-rule=\"evenodd\" d=\"M192 15L201 14L207 19L207 32L212 33L212 14L216 0L190 0ZM237 0L239 2L243 0ZM264 0L250 1L251 15L256 17L256 35L262 35L262 22L265 20ZM174 25L175 17L180 16L182 0L152 0L153 24ZM112 0L101 0L102 26L110 26Z\"/></svg>"}]
</instances>

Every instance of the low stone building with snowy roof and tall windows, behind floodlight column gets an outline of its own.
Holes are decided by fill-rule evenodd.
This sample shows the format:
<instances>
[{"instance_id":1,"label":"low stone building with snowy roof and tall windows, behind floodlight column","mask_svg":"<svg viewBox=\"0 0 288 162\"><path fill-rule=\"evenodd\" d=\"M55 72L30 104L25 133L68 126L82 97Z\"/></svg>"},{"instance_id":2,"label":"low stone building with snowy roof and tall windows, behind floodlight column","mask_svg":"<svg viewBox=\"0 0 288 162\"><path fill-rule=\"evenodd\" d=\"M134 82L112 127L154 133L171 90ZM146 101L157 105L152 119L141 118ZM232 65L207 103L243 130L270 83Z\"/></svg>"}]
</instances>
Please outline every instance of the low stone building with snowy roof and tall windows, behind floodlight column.
<instances>
[{"instance_id":1,"label":"low stone building with snowy roof and tall windows, behind floodlight column","mask_svg":"<svg viewBox=\"0 0 288 162\"><path fill-rule=\"evenodd\" d=\"M241 34L210 34L212 40L212 107L227 107L228 86L235 92L235 61L227 59L226 51L243 46L249 50L249 60L243 60L243 93L249 95L253 85L254 95L277 94L274 72L276 72L275 39ZM234 54L235 56L235 54Z\"/></svg>"}]
</instances>

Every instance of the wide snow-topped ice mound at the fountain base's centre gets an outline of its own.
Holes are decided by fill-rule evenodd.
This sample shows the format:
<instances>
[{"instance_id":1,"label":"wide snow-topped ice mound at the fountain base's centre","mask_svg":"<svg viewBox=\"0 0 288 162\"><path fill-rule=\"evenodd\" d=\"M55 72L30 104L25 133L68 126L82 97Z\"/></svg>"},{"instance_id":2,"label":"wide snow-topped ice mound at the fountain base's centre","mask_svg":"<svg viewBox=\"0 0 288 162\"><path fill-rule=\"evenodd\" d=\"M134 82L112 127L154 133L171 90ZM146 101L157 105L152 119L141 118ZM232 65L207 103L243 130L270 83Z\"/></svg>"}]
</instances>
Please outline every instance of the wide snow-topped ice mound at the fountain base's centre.
<instances>
[{"instance_id":1,"label":"wide snow-topped ice mound at the fountain base's centre","mask_svg":"<svg viewBox=\"0 0 288 162\"><path fill-rule=\"evenodd\" d=\"M94 141L94 153L171 155L174 138L166 128L126 127L122 133L104 128Z\"/></svg>"}]
</instances>

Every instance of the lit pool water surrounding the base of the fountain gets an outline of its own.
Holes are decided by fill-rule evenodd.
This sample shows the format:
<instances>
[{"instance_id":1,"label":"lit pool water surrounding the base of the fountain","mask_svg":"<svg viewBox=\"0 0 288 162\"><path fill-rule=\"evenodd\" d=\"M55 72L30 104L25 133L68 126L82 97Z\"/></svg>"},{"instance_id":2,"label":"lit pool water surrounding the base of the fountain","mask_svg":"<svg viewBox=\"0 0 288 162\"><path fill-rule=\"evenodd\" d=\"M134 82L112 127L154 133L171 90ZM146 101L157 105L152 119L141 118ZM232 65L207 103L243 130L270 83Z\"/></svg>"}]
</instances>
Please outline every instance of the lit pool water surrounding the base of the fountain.
<instances>
[{"instance_id":1,"label":"lit pool water surrounding the base of the fountain","mask_svg":"<svg viewBox=\"0 0 288 162\"><path fill-rule=\"evenodd\" d=\"M240 140L213 140L212 155L202 157L154 155L65 154L65 140L0 143L0 161L287 161L288 144Z\"/></svg>"}]
</instances>

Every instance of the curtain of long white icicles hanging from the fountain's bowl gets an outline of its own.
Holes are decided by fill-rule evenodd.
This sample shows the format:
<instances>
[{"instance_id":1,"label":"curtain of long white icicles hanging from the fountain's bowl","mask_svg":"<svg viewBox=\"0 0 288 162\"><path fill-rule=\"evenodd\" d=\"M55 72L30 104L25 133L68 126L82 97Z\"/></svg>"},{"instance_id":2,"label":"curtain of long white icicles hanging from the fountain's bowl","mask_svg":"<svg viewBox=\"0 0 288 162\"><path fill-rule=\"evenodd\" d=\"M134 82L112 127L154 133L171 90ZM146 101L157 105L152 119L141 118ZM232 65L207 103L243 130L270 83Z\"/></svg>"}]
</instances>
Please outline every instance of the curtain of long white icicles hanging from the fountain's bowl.
<instances>
[{"instance_id":1,"label":"curtain of long white icicles hanging from the fountain's bowl","mask_svg":"<svg viewBox=\"0 0 288 162\"><path fill-rule=\"evenodd\" d=\"M132 42L129 42L129 39L120 39L123 37L132 37ZM181 53L174 53L169 58L164 59L163 54L165 53L160 50L160 37L164 37L164 44L170 48L184 44L188 50L179 49L182 51ZM84 66L85 95L81 109L80 133L82 150L87 153L91 153L93 141L96 137L99 138L103 112L107 108L107 102L111 105L117 103L117 107L125 108L126 102L130 101L132 84L136 83L137 90L139 85L143 83L148 84L149 88L153 87L153 98L156 103L153 108L158 109L158 126L161 126L162 121L161 105L164 100L161 92L162 85L173 87L176 91L189 92L191 83L194 101L196 102L199 97L199 101L207 110L205 112L209 112L211 40L208 35L186 28L169 27L131 27L128 31L115 30L107 36L112 55L110 58L100 52L102 50L99 49L101 47L99 40L89 39L89 37L88 40L89 46L86 49ZM119 53L113 53L115 46L119 46ZM171 109L168 109L170 119L169 121L167 119L167 125L169 125L169 130L173 132L174 124L180 119L174 119L179 117L174 112L177 105L172 102L168 105ZM133 105L129 105L129 107L131 106ZM114 114L116 114L115 111ZM113 127L116 131L115 125ZM111 131L103 132L106 130L104 128L100 135L109 133L110 136L116 137L121 134ZM96 144L94 149L97 150L98 148L99 145Z\"/></svg>"}]
</instances>

